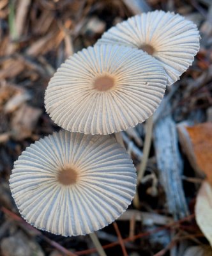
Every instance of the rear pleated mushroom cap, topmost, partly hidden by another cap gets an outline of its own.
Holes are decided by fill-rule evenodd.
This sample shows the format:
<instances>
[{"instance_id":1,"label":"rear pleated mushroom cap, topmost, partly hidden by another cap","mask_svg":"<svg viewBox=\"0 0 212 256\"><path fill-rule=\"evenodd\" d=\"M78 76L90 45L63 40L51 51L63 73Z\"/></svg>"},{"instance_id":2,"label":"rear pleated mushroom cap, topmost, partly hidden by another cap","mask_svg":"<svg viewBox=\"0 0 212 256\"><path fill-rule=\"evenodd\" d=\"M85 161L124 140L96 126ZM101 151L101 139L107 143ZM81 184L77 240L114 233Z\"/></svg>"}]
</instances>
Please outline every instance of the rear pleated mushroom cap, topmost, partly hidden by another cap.
<instances>
[{"instance_id":1,"label":"rear pleated mushroom cap, topmost, partly hidden by another cap","mask_svg":"<svg viewBox=\"0 0 212 256\"><path fill-rule=\"evenodd\" d=\"M117 24L103 33L100 44L119 44L142 49L150 45L152 56L165 69L168 85L192 65L199 51L199 31L190 20L179 14L163 12L142 13Z\"/></svg>"}]
</instances>

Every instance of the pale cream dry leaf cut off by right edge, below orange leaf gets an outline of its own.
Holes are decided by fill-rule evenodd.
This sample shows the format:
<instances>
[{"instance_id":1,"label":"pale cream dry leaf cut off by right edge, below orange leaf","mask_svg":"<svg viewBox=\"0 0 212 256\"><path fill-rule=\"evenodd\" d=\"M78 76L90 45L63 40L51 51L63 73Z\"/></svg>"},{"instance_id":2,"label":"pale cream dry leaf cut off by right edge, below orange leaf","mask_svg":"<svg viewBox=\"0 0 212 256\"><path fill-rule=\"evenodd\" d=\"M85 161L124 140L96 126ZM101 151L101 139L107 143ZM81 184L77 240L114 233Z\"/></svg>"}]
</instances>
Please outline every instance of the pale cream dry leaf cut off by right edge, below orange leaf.
<instances>
[{"instance_id":1,"label":"pale cream dry leaf cut off by right edge, below orange leaf","mask_svg":"<svg viewBox=\"0 0 212 256\"><path fill-rule=\"evenodd\" d=\"M212 246L212 187L207 181L199 189L195 215L199 228Z\"/></svg>"}]
</instances>

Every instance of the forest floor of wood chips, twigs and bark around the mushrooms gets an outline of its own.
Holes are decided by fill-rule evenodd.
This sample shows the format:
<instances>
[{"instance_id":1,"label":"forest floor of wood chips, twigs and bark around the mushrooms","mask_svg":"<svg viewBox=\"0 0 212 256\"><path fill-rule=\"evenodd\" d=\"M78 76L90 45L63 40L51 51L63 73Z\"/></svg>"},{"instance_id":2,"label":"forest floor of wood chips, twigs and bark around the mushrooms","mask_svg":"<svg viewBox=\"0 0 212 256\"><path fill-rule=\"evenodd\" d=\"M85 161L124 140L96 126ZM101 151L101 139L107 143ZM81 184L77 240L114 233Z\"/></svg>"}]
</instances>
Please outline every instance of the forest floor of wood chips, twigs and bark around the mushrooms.
<instances>
[{"instance_id":1,"label":"forest floor of wood chips, twigs and bark around the mushrooms","mask_svg":"<svg viewBox=\"0 0 212 256\"><path fill-rule=\"evenodd\" d=\"M201 49L192 67L167 88L154 114L149 154L144 150L147 122L122 132L135 167L142 169L137 200L117 226L96 234L107 255L212 255L194 211L202 181L212 179L210 0L0 1L0 255L98 255L89 236L55 236L28 225L8 180L22 150L59 130L45 113L43 98L61 63L95 44L117 22L151 10L192 20L201 33Z\"/></svg>"}]
</instances>

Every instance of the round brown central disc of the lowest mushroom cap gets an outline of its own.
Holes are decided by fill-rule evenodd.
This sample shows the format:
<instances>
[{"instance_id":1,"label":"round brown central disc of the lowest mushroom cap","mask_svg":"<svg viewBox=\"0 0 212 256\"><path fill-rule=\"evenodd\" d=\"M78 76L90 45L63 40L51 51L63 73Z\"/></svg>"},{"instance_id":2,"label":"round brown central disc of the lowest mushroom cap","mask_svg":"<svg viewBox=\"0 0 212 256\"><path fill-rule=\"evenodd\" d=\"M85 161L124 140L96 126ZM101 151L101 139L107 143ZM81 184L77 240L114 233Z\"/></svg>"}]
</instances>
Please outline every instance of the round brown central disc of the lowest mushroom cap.
<instances>
[{"instance_id":1,"label":"round brown central disc of the lowest mushroom cap","mask_svg":"<svg viewBox=\"0 0 212 256\"><path fill-rule=\"evenodd\" d=\"M75 184L77 182L77 172L72 168L64 168L58 173L57 180L66 186Z\"/></svg>"}]
</instances>

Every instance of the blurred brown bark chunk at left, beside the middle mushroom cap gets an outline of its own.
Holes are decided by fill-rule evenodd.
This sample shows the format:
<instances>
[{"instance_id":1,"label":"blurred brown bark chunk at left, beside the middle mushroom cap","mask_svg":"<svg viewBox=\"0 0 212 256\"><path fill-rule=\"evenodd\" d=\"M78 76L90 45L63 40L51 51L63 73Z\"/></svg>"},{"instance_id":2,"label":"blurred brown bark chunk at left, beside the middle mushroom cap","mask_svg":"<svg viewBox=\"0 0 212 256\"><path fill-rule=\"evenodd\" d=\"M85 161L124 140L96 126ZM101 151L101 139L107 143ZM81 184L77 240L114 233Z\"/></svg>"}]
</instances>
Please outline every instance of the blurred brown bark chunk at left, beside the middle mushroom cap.
<instances>
[{"instance_id":1,"label":"blurred brown bark chunk at left, beside the middle mushroom cap","mask_svg":"<svg viewBox=\"0 0 212 256\"><path fill-rule=\"evenodd\" d=\"M11 136L15 140L30 137L41 114L41 109L23 104L11 120Z\"/></svg>"}]
</instances>

